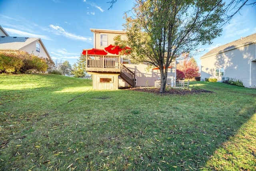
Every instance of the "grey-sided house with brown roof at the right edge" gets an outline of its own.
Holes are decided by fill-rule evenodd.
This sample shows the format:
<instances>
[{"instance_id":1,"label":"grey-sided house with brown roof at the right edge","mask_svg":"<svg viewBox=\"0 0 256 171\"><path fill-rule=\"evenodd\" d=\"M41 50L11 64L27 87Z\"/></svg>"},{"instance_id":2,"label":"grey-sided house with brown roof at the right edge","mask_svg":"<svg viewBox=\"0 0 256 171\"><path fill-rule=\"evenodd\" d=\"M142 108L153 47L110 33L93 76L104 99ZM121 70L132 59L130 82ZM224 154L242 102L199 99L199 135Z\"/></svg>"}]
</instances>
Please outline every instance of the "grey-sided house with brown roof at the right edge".
<instances>
[{"instance_id":1,"label":"grey-sided house with brown roof at the right edge","mask_svg":"<svg viewBox=\"0 0 256 171\"><path fill-rule=\"evenodd\" d=\"M200 60L202 79L236 79L244 87L256 87L256 34L214 48Z\"/></svg>"}]
</instances>

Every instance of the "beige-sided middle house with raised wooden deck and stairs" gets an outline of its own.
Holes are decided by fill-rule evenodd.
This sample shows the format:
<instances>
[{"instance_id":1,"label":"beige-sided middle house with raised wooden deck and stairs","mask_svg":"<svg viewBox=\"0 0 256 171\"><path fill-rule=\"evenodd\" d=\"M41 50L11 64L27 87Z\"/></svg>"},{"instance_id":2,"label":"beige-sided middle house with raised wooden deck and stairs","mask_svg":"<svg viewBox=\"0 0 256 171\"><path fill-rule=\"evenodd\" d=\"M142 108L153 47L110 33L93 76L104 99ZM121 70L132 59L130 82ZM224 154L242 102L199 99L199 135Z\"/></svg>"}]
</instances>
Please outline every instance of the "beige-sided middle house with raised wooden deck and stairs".
<instances>
[{"instance_id":1,"label":"beige-sided middle house with raised wooden deck and stairs","mask_svg":"<svg viewBox=\"0 0 256 171\"><path fill-rule=\"evenodd\" d=\"M90 29L94 33L94 48L104 49L114 45L114 37L126 32L119 30ZM160 71L148 69L146 64L132 64L128 56L108 53L106 56L88 55L86 71L92 74L93 89L118 89L118 87L144 87L159 85ZM100 62L100 61L104 62ZM98 64L97 66L94 64ZM100 65L99 65L100 64ZM174 84L174 69L168 69L167 84Z\"/></svg>"}]
</instances>

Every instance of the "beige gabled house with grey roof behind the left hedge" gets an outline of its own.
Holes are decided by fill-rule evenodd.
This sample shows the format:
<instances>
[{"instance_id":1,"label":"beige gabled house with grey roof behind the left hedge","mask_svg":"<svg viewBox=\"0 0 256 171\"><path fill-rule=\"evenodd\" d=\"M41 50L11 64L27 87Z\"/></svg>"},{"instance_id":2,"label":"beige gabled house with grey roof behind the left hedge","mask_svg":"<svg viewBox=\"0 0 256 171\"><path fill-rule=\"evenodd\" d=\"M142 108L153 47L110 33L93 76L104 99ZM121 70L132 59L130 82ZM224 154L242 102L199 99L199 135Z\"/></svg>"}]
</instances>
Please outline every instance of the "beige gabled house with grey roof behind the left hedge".
<instances>
[{"instance_id":1,"label":"beige gabled house with grey roof behind the left hedge","mask_svg":"<svg viewBox=\"0 0 256 171\"><path fill-rule=\"evenodd\" d=\"M25 51L38 57L52 58L46 50L40 38L16 37L9 36L0 26L0 51L16 52ZM53 62L53 61L52 61Z\"/></svg>"}]
</instances>

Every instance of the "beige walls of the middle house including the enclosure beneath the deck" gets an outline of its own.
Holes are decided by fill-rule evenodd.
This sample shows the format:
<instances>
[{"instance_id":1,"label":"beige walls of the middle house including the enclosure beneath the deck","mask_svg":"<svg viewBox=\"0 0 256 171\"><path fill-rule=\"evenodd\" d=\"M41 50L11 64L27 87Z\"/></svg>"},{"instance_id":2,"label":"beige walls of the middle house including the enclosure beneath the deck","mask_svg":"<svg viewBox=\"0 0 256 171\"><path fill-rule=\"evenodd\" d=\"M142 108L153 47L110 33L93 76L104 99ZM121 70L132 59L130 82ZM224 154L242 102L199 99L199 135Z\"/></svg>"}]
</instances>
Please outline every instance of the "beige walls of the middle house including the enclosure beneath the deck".
<instances>
[{"instance_id":1,"label":"beige walls of the middle house including the enclosure beneath the deck","mask_svg":"<svg viewBox=\"0 0 256 171\"><path fill-rule=\"evenodd\" d=\"M126 32L120 31L120 30L104 30L104 29L90 29L91 32L94 33L94 47L96 49L104 49L110 44L114 45L114 37L117 35L121 36L121 39L126 39ZM106 56L116 56L115 54L108 53ZM155 86L156 81L160 80L160 71L155 69L149 69L148 65L146 64L132 64L128 56L120 56L120 63L124 65L126 68L128 68L130 71L132 71L135 75L135 87L140 86ZM101 70L96 72L90 72L90 68L87 70L88 73L92 74L93 80L93 88L94 89L117 89L118 87L127 87L130 86L128 82L124 81L120 75L120 72L104 72L102 73ZM174 67L168 69L168 78L167 78L167 84L168 85L174 85ZM113 75L114 74L114 75ZM118 76L118 83L115 83L116 77ZM100 77L113 77L114 81L111 83L107 83L109 85L104 85L102 83L98 83L97 80L100 80ZM112 85L113 84L113 85ZM94 86L95 85L95 86ZM103 87L102 87L103 86ZM133 85L132 85L133 87Z\"/></svg>"}]
</instances>

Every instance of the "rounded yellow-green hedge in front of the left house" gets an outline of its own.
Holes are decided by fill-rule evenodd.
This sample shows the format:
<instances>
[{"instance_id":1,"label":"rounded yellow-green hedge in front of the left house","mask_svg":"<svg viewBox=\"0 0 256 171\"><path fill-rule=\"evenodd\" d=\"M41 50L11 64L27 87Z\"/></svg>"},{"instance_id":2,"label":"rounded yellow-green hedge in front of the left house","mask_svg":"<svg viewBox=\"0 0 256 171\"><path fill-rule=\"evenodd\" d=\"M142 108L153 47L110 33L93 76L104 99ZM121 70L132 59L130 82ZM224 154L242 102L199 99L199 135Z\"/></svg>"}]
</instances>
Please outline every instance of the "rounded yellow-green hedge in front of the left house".
<instances>
[{"instance_id":1,"label":"rounded yellow-green hedge in front of the left house","mask_svg":"<svg viewBox=\"0 0 256 171\"><path fill-rule=\"evenodd\" d=\"M0 52L0 73L46 72L48 64L28 52Z\"/></svg>"}]
</instances>

